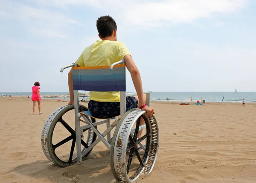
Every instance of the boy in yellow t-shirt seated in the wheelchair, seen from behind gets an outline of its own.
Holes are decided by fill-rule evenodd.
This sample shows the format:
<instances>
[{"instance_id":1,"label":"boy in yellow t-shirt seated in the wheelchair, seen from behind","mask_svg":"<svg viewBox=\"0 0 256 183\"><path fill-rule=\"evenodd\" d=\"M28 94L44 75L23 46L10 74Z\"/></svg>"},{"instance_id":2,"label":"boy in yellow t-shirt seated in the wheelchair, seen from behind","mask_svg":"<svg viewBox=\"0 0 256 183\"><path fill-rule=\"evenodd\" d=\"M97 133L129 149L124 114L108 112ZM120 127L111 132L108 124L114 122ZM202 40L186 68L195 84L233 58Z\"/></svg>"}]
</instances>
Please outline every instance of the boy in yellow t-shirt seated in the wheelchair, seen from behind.
<instances>
[{"instance_id":1,"label":"boy in yellow t-shirt seated in the wheelchair, seen from behind","mask_svg":"<svg viewBox=\"0 0 256 183\"><path fill-rule=\"evenodd\" d=\"M146 111L147 116L154 114L154 109L145 105L146 97L143 95L142 81L140 72L131 58L131 53L125 44L117 41L116 22L110 16L99 17L96 26L99 32L99 38L102 41L96 41L91 46L84 49L76 61L79 67L99 67L110 66L116 61L125 60L125 66L131 74L137 96L126 97L126 111L139 107ZM68 85L70 92L69 105L74 104L73 75L72 69L68 73ZM90 91L90 102L88 103L90 113L95 118L107 119L120 115L120 92L94 92ZM145 122L143 119L140 125ZM139 131L140 138L142 131Z\"/></svg>"}]
</instances>

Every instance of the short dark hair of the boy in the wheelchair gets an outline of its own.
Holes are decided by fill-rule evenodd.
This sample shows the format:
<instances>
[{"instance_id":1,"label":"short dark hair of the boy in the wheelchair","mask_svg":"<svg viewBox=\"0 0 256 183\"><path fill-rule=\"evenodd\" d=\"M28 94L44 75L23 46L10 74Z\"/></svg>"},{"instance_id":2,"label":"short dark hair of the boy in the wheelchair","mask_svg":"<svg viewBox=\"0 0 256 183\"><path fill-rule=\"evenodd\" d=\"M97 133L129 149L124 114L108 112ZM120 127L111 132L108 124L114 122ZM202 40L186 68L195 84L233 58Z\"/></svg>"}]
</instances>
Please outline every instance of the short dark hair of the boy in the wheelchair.
<instances>
[{"instance_id":1,"label":"short dark hair of the boy in the wheelchair","mask_svg":"<svg viewBox=\"0 0 256 183\"><path fill-rule=\"evenodd\" d=\"M101 38L111 36L112 32L117 29L116 22L111 16L102 16L99 17L96 26Z\"/></svg>"}]
</instances>

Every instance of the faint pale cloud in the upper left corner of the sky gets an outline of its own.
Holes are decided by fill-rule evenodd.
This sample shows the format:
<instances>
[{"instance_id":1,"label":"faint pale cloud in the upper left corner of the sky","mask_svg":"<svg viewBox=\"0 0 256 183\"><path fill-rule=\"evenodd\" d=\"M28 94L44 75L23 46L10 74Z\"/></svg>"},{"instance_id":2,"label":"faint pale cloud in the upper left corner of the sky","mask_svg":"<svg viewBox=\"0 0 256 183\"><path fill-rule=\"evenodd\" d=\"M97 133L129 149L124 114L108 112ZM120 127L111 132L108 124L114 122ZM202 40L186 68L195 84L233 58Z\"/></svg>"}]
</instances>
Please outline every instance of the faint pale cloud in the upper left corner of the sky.
<instances>
[{"instance_id":1,"label":"faint pale cloud in the upper left corner of the sky","mask_svg":"<svg viewBox=\"0 0 256 183\"><path fill-rule=\"evenodd\" d=\"M0 6L2 21L17 20L21 27L36 35L49 38L68 38L67 32L72 26L79 26L61 12L47 8L37 8L13 1L3 1Z\"/></svg>"}]
</instances>

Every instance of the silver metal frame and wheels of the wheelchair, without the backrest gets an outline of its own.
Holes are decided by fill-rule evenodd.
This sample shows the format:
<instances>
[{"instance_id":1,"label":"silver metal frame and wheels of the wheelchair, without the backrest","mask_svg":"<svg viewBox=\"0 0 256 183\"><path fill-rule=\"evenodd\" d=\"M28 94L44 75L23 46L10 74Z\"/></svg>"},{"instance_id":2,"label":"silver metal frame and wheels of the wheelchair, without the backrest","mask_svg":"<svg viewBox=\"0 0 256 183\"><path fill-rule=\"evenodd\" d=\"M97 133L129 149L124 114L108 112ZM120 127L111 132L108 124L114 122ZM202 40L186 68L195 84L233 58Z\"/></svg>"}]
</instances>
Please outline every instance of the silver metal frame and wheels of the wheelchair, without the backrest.
<instances>
[{"instance_id":1,"label":"silver metal frame and wheels of the wheelchair, without the backrest","mask_svg":"<svg viewBox=\"0 0 256 183\"><path fill-rule=\"evenodd\" d=\"M113 68L118 64L124 64L125 61L121 60L114 64L112 64L109 68L109 70L113 70ZM65 67L61 68L61 72L63 72L64 69L68 67L76 67L76 64L70 64ZM146 104L150 106L150 93L151 91L143 92L146 94ZM81 94L81 93L80 93ZM120 117L116 116L114 118L114 122L111 124L111 119L102 119L98 122L93 121L94 118L90 114L86 112L79 111L79 91L74 90L74 111L75 111L75 133L76 133L76 159L77 163L82 163L82 157L84 157L87 154L90 154L90 151L92 151L93 147L97 145L100 141L104 143L104 145L108 148L108 150L111 151L111 170L113 173L113 176L116 180L122 180L128 183L134 182L137 180L141 175L148 174L152 171L154 167L154 163L156 161L157 157L157 151L158 151L158 145L159 145L159 131L158 131L158 124L155 116L145 116L145 111L140 109L131 109L129 111L125 111L126 109L126 96L135 96L137 93L125 93L125 91L121 91L121 101L120 101ZM63 106L63 109L66 106ZM60 109L60 110L63 110ZM59 111L60 111L59 110ZM57 110L56 110L57 111ZM55 111L55 112L56 112ZM53 117L52 117L53 116ZM54 115L51 114L47 120L47 122L44 125L43 131L42 131L42 148L44 151L44 154L46 157L51 160L53 163L55 162L53 155L50 153L52 147L49 143L48 138L50 137L49 133L53 133L53 130L49 132L49 128L52 122L52 119L54 118ZM146 124L140 125L140 119L144 119ZM137 122L138 120L138 122ZM85 123L86 125L80 125L80 122ZM132 129L133 125L137 122L136 128ZM98 125L102 125L106 123L106 130L101 134L99 130L97 129ZM111 130L116 127L116 130L114 131L113 137L111 138ZM146 128L146 134L141 137L140 139L137 139L138 131L143 130ZM81 141L83 139L83 132L86 130L92 130L93 132L88 134L87 141L92 139L93 137L90 137L93 135L93 133L96 134L98 137L94 141L90 141L92 143L85 143L84 141ZM107 139L105 139L105 136L107 136ZM143 145L142 141L143 139L147 140L147 145ZM82 142L82 143L81 143ZM90 144L90 145L89 145ZM84 149L81 150L81 145L84 145ZM140 145L143 148L143 151L145 151L145 154L143 155L143 158L141 158L140 154L138 154L137 146ZM53 146L53 145L52 145ZM128 163L126 166L126 154L130 152ZM131 166L131 161L133 154L136 154L138 157L138 160L140 162L140 167L137 169L136 173L132 175L131 177L128 176L129 168ZM129 164L130 163L130 164ZM57 163L58 164L58 163ZM70 163L71 164L71 163Z\"/></svg>"}]
</instances>

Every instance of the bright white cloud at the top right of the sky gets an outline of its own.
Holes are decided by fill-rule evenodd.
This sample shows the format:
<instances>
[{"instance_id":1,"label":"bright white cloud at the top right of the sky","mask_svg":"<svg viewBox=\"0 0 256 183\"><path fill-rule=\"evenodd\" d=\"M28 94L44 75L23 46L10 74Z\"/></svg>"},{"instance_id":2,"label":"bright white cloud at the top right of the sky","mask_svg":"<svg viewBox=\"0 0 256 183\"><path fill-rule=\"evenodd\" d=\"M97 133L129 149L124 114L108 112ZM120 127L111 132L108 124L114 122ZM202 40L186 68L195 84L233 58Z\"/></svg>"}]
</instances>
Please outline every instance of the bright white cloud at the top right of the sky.
<instances>
[{"instance_id":1,"label":"bright white cloud at the top right of the sky","mask_svg":"<svg viewBox=\"0 0 256 183\"><path fill-rule=\"evenodd\" d=\"M214 13L234 12L243 7L244 0L177 0L137 4L124 12L125 20L136 25L151 26L165 22L188 23L198 18L211 17ZM129 13L129 14L128 14Z\"/></svg>"}]
</instances>

